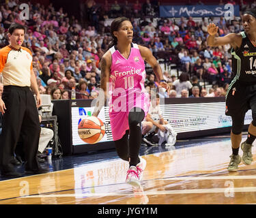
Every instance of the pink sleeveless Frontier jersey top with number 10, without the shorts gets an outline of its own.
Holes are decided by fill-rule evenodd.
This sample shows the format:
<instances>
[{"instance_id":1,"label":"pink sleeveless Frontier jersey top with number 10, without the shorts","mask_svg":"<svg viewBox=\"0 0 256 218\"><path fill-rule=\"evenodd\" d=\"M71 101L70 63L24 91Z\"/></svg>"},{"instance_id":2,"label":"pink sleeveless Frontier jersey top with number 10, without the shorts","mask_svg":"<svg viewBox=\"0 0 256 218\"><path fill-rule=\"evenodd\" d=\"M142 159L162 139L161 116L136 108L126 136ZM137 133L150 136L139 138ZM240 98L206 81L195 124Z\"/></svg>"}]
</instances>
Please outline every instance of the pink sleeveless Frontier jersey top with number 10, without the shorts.
<instances>
[{"instance_id":1,"label":"pink sleeveless Frontier jersey top with number 10, without the shorts","mask_svg":"<svg viewBox=\"0 0 256 218\"><path fill-rule=\"evenodd\" d=\"M133 107L144 108L145 64L137 44L131 44L128 59L119 50L110 48L112 55L110 76L110 112L129 112Z\"/></svg>"}]
</instances>

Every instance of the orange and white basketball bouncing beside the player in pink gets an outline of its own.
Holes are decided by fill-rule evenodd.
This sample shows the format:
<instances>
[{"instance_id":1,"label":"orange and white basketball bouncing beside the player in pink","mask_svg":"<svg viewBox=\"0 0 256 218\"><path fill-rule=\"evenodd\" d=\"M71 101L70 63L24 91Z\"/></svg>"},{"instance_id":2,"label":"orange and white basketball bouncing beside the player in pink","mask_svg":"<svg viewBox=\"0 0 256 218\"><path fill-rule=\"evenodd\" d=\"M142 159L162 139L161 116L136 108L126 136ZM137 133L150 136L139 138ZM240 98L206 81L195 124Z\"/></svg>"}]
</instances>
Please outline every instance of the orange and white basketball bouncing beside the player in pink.
<instances>
[{"instance_id":1,"label":"orange and white basketball bouncing beside the player in pink","mask_svg":"<svg viewBox=\"0 0 256 218\"><path fill-rule=\"evenodd\" d=\"M100 142L105 134L104 123L96 116L88 116L79 123L79 137L86 143Z\"/></svg>"}]
</instances>

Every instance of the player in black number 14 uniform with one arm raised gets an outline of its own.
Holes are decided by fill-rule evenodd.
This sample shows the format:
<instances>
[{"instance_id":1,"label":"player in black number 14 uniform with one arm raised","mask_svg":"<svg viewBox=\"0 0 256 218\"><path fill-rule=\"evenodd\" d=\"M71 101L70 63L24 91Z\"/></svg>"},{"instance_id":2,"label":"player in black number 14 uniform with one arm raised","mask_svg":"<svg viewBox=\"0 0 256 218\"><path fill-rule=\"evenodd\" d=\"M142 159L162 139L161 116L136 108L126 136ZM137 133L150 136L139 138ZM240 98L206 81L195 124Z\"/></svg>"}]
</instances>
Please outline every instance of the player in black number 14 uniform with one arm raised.
<instances>
[{"instance_id":1,"label":"player in black number 14 uniform with one arm raised","mask_svg":"<svg viewBox=\"0 0 256 218\"><path fill-rule=\"evenodd\" d=\"M242 15L241 33L229 33L224 37L216 37L218 27L208 25L207 43L209 46L232 46L233 80L229 84L226 95L226 115L232 118L231 144L232 155L227 170L236 172L241 157L238 155L242 140L244 116L251 109L253 121L248 127L246 141L242 142L242 162L250 165L253 161L251 147L256 138L256 10L248 9Z\"/></svg>"}]
</instances>

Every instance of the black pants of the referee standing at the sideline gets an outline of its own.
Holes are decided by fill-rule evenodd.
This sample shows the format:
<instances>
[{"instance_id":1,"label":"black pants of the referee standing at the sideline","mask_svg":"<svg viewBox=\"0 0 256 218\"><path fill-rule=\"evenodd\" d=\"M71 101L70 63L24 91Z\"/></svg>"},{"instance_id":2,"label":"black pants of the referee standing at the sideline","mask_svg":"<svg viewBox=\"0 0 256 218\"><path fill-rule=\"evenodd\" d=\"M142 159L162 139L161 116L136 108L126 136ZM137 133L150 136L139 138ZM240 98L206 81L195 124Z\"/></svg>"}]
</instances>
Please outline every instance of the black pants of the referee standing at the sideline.
<instances>
[{"instance_id":1,"label":"black pants of the referee standing at the sideline","mask_svg":"<svg viewBox=\"0 0 256 218\"><path fill-rule=\"evenodd\" d=\"M3 88L3 102L5 113L0 144L0 170L13 171L10 160L14 156L16 144L23 140L23 151L27 161L26 169L37 169L38 142L40 137L40 123L35 98L29 87L5 86Z\"/></svg>"}]
</instances>

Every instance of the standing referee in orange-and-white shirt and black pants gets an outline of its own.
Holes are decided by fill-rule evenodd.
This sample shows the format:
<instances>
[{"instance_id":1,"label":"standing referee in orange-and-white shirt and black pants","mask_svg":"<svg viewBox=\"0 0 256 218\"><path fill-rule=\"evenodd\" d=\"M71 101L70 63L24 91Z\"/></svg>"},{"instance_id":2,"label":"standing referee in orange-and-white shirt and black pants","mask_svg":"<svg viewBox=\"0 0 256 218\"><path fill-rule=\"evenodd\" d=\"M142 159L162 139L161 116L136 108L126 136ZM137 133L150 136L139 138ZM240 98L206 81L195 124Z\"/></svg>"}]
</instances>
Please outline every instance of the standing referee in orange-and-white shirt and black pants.
<instances>
[{"instance_id":1,"label":"standing referee in orange-and-white shirt and black pants","mask_svg":"<svg viewBox=\"0 0 256 218\"><path fill-rule=\"evenodd\" d=\"M8 29L10 44L0 50L0 72L3 74L3 95L0 97L0 112L3 113L0 170L1 176L5 177L21 176L10 163L20 136L23 138L25 152L25 173L48 172L39 166L36 159L40 137L37 107L41 104L41 98L33 72L31 51L21 46L25 31L23 25L13 23Z\"/></svg>"}]
</instances>

